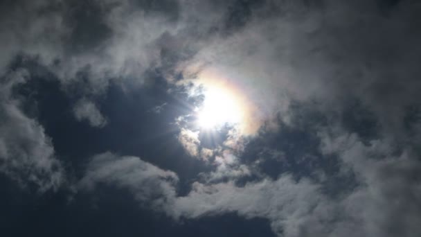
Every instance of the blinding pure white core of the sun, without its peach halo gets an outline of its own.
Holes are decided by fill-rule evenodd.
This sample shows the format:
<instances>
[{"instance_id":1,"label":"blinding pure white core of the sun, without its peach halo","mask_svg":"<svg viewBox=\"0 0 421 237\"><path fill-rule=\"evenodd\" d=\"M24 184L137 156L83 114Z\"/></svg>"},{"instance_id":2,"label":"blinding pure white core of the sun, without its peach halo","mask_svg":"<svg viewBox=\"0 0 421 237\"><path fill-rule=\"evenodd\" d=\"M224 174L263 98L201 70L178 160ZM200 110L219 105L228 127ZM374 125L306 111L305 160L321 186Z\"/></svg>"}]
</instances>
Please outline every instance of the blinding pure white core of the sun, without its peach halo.
<instances>
[{"instance_id":1,"label":"blinding pure white core of the sun, without its peach halo","mask_svg":"<svg viewBox=\"0 0 421 237\"><path fill-rule=\"evenodd\" d=\"M206 89L204 96L197 111L197 123L201 128L235 125L242 119L240 103L228 89L211 87Z\"/></svg>"}]
</instances>

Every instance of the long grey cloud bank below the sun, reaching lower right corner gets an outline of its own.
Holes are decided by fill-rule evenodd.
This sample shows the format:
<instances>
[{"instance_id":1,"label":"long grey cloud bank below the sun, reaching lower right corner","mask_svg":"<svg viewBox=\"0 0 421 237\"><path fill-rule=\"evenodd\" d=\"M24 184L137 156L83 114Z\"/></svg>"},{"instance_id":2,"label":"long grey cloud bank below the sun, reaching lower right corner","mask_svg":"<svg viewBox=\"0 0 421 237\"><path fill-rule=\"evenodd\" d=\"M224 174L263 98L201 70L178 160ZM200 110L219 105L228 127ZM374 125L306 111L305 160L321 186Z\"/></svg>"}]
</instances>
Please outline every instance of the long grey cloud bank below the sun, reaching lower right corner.
<instances>
[{"instance_id":1,"label":"long grey cloud bank below the sun, reaching lower right corner","mask_svg":"<svg viewBox=\"0 0 421 237\"><path fill-rule=\"evenodd\" d=\"M409 152L393 156L387 146L365 146L352 135L334 140L336 145L326 140L330 145L323 145L323 152L339 155L359 180L352 192L334 199L323 193L321 184L305 178L296 181L290 175L244 186L233 181L195 182L187 195L178 196L174 173L138 157L109 152L93 157L80 186L91 189L104 183L128 188L139 202L154 203L156 211L174 220L232 212L245 218L267 218L279 236L417 236L419 161ZM375 159L373 155L388 157ZM206 179L216 180L212 175Z\"/></svg>"}]
</instances>

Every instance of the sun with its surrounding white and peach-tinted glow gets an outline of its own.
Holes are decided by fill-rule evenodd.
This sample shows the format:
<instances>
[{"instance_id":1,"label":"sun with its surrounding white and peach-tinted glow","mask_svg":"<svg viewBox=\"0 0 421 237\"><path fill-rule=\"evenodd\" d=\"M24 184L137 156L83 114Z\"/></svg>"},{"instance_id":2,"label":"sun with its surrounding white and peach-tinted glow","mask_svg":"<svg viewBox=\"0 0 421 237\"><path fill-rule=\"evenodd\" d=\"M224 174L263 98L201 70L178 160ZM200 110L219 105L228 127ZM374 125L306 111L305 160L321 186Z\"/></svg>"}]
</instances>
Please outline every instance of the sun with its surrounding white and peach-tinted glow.
<instances>
[{"instance_id":1,"label":"sun with its surrounding white and peach-tinted glow","mask_svg":"<svg viewBox=\"0 0 421 237\"><path fill-rule=\"evenodd\" d=\"M258 97L250 94L249 85L244 85L235 76L224 70L193 70L191 96L204 96L200 105L192 107L195 129L206 134L228 128L235 136L253 136L258 132L262 114L257 107Z\"/></svg>"}]
</instances>

